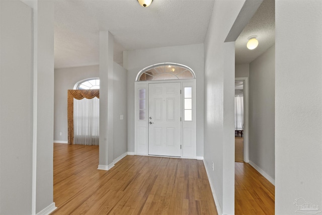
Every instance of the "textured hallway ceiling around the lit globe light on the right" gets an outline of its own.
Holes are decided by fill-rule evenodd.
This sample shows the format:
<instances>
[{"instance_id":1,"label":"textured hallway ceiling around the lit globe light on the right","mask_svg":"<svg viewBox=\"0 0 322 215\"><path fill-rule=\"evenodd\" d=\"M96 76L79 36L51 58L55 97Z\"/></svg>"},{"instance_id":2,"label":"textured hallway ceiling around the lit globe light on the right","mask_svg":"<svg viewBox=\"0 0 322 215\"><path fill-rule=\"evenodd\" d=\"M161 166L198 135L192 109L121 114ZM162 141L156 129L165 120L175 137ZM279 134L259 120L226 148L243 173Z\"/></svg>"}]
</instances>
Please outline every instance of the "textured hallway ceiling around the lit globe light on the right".
<instances>
[{"instance_id":1,"label":"textured hallway ceiling around the lit globe light on the right","mask_svg":"<svg viewBox=\"0 0 322 215\"><path fill-rule=\"evenodd\" d=\"M259 45L256 49L246 47L248 38L256 35ZM275 44L275 1L264 0L249 24L235 42L235 64L250 63Z\"/></svg>"}]
</instances>

